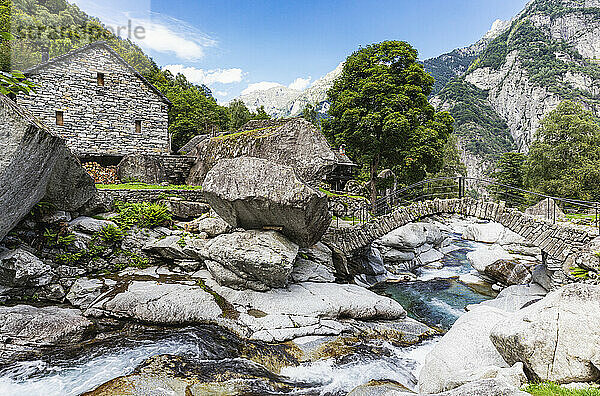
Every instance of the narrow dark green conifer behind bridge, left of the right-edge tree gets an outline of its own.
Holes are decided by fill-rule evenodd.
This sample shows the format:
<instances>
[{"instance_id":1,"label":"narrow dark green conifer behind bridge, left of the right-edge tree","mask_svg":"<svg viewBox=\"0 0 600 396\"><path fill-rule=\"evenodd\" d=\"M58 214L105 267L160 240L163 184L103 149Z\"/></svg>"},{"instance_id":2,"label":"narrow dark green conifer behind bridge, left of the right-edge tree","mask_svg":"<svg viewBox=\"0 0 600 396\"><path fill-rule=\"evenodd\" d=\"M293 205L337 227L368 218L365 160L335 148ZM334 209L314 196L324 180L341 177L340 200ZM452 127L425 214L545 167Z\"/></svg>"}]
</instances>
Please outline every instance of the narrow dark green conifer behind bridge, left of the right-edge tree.
<instances>
[{"instance_id":1,"label":"narrow dark green conifer behind bridge, left of the right-edge tree","mask_svg":"<svg viewBox=\"0 0 600 396\"><path fill-rule=\"evenodd\" d=\"M510 187L525 189L525 161L527 156L522 153L504 153L496 163L492 174L495 181ZM525 203L525 194L503 186L492 186L491 192L509 206L520 206Z\"/></svg>"}]
</instances>

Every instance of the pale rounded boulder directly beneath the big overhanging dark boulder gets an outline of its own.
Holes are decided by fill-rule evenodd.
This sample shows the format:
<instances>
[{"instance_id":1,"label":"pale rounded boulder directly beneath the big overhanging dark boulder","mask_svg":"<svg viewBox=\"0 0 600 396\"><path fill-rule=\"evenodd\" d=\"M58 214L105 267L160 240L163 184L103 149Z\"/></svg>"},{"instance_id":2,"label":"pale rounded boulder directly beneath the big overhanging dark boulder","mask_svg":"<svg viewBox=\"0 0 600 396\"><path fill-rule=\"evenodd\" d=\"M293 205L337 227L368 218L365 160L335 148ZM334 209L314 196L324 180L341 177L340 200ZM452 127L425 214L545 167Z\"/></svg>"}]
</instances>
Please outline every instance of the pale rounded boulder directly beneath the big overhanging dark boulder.
<instances>
[{"instance_id":1,"label":"pale rounded boulder directly beneath the big overhanging dark boulder","mask_svg":"<svg viewBox=\"0 0 600 396\"><path fill-rule=\"evenodd\" d=\"M288 284L298 245L275 231L250 230L219 235L204 254L219 284L264 291Z\"/></svg>"}]
</instances>

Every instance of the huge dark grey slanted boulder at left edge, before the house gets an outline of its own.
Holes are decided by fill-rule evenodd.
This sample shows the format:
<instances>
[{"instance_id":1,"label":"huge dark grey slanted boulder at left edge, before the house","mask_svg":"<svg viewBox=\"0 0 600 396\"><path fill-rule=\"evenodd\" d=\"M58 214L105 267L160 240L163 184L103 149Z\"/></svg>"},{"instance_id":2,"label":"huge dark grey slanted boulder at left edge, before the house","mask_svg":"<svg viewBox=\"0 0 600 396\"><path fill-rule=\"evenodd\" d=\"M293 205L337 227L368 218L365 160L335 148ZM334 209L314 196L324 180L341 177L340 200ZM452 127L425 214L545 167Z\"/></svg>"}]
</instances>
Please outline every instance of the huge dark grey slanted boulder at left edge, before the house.
<instances>
[{"instance_id":1,"label":"huge dark grey slanted boulder at left edge, before the house","mask_svg":"<svg viewBox=\"0 0 600 396\"><path fill-rule=\"evenodd\" d=\"M64 141L0 94L0 239L44 199L76 210L96 187Z\"/></svg>"}]
</instances>

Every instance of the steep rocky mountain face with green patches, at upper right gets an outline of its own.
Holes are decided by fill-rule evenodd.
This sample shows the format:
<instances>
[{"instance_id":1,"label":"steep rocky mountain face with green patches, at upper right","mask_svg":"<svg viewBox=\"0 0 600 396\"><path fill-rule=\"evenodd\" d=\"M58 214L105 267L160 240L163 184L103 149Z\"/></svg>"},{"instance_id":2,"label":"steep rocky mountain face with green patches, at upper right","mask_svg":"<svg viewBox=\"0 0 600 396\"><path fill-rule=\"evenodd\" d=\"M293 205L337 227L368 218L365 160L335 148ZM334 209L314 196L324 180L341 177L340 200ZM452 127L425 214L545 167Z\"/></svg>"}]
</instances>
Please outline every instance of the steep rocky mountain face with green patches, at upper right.
<instances>
[{"instance_id":1,"label":"steep rocky mountain face with green patches, at upper right","mask_svg":"<svg viewBox=\"0 0 600 396\"><path fill-rule=\"evenodd\" d=\"M432 103L455 118L469 174L483 175L502 152L527 152L561 101L600 114L600 0L531 1L478 44L425 65L438 84L455 75Z\"/></svg>"}]
</instances>

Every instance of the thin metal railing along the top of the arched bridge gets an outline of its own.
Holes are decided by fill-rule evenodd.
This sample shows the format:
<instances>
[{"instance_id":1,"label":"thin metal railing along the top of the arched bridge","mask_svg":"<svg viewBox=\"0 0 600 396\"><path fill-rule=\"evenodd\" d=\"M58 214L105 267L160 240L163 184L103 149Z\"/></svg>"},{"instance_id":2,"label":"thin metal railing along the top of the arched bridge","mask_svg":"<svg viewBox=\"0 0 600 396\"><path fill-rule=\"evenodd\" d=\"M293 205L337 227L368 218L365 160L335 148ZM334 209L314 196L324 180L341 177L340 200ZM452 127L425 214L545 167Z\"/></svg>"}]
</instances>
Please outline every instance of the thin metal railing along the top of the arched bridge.
<instances>
[{"instance_id":1,"label":"thin metal railing along the top of the arched bridge","mask_svg":"<svg viewBox=\"0 0 600 396\"><path fill-rule=\"evenodd\" d=\"M373 203L366 203L354 211L353 224L368 222L392 212L398 206L408 206L415 202L436 198L448 199L469 196L475 199L504 201L507 207L517 208L521 211L547 200L545 213L547 220L556 223L556 209L558 207L565 215L580 215L588 220L593 220L593 224L600 232L600 202L553 197L493 180L462 176L423 180L398 189Z\"/></svg>"}]
</instances>

